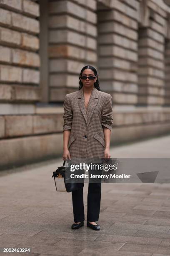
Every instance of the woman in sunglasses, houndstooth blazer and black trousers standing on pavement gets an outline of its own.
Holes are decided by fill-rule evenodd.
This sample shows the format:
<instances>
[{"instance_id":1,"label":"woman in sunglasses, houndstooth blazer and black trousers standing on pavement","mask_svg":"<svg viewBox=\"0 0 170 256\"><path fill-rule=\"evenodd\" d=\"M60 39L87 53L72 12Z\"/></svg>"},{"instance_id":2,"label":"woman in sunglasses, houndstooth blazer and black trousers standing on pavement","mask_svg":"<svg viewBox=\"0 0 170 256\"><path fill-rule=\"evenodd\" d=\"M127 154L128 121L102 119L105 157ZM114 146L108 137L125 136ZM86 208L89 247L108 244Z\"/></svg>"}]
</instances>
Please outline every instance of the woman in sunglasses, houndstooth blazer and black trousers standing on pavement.
<instances>
[{"instance_id":1,"label":"woman in sunglasses, houndstooth blazer and black trousers standing on pavement","mask_svg":"<svg viewBox=\"0 0 170 256\"><path fill-rule=\"evenodd\" d=\"M110 158L112 130L112 97L99 87L97 71L92 66L82 68L79 90L64 100L63 160ZM72 192L75 223L72 229L84 225L83 187ZM87 195L87 226L100 230L101 183L89 183Z\"/></svg>"}]
</instances>

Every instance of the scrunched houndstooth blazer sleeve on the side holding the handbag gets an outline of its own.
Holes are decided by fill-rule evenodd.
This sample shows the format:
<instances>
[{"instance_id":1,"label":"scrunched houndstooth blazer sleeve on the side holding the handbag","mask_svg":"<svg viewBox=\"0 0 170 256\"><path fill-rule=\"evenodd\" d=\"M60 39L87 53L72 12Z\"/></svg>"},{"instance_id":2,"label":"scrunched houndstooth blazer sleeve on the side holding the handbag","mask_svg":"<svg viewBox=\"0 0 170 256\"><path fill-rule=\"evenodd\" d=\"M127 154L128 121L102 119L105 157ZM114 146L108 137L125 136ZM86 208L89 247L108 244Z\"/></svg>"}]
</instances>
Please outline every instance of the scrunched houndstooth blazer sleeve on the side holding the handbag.
<instances>
[{"instance_id":1,"label":"scrunched houndstooth blazer sleeve on the side holding the handbag","mask_svg":"<svg viewBox=\"0 0 170 256\"><path fill-rule=\"evenodd\" d=\"M71 108L71 102L67 94L65 95L63 107L64 107L64 114L62 116L62 118L64 119L63 131L71 130L73 113Z\"/></svg>"}]
</instances>

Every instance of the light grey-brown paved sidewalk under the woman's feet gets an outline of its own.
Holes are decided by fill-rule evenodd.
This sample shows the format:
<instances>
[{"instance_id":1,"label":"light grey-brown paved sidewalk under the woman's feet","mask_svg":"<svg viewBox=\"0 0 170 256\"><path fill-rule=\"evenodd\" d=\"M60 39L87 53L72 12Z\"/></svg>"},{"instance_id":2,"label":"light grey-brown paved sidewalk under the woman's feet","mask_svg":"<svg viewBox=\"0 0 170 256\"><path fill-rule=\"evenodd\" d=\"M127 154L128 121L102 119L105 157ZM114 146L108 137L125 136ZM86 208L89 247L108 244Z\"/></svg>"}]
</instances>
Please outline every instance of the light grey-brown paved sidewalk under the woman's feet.
<instances>
[{"instance_id":1,"label":"light grey-brown paved sidewalk under the woman's feet","mask_svg":"<svg viewBox=\"0 0 170 256\"><path fill-rule=\"evenodd\" d=\"M169 156L170 136L111 151L114 158ZM100 231L86 222L72 230L71 193L56 192L52 178L60 160L0 176L1 248L30 247L31 256L170 255L170 184L102 184Z\"/></svg>"}]
</instances>

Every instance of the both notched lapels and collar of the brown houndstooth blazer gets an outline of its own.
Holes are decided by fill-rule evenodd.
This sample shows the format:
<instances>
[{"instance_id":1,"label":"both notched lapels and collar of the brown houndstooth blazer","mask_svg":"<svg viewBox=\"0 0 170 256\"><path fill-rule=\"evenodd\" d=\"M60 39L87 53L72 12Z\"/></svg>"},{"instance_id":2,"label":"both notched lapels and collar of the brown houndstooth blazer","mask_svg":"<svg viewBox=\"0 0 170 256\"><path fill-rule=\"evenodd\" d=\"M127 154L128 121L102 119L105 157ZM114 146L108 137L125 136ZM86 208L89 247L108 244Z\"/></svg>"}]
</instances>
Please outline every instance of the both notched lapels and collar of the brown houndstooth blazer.
<instances>
[{"instance_id":1,"label":"both notched lapels and collar of the brown houndstooth blazer","mask_svg":"<svg viewBox=\"0 0 170 256\"><path fill-rule=\"evenodd\" d=\"M87 125L89 125L90 120L92 118L92 114L98 102L98 90L95 87L93 88L88 105L87 105L87 110L85 109L85 98L83 95L82 88L78 91L77 97L78 97L78 104L82 112L82 115L84 116Z\"/></svg>"}]
</instances>

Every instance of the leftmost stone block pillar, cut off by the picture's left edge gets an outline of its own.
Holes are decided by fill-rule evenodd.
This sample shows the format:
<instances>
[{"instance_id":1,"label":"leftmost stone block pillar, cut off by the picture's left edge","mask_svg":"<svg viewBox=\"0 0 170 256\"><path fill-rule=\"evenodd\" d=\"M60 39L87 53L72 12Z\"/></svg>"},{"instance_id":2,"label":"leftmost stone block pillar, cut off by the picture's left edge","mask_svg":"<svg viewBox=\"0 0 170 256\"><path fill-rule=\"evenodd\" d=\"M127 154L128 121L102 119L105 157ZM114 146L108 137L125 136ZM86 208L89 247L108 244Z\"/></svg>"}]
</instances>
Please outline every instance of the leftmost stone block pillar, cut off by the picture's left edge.
<instances>
[{"instance_id":1,"label":"leftmost stone block pillar, cut off by the picture's left edge","mask_svg":"<svg viewBox=\"0 0 170 256\"><path fill-rule=\"evenodd\" d=\"M13 103L15 108L21 102L40 100L38 16L39 5L33 1L0 1L0 102L3 108L4 103ZM8 104L6 106L8 108ZM0 109L3 113L1 104Z\"/></svg>"}]
</instances>

